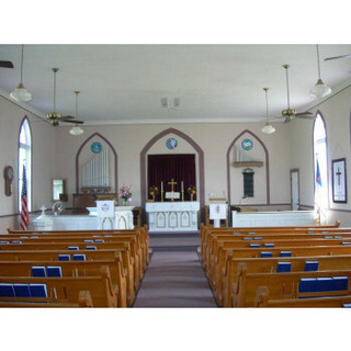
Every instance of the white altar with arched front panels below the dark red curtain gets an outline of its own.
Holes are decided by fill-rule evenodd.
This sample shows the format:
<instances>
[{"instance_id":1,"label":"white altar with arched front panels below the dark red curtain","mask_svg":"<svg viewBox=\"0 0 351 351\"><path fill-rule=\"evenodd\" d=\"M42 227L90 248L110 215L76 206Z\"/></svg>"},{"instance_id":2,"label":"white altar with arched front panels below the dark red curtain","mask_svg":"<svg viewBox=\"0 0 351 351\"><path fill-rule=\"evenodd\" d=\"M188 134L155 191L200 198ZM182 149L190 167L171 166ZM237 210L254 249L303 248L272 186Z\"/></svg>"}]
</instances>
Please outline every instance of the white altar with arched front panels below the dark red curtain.
<instances>
[{"instance_id":1,"label":"white altar with arched front panels below the dark red curtain","mask_svg":"<svg viewBox=\"0 0 351 351\"><path fill-rule=\"evenodd\" d=\"M199 229L200 202L148 202L145 205L149 231L193 231Z\"/></svg>"}]
</instances>

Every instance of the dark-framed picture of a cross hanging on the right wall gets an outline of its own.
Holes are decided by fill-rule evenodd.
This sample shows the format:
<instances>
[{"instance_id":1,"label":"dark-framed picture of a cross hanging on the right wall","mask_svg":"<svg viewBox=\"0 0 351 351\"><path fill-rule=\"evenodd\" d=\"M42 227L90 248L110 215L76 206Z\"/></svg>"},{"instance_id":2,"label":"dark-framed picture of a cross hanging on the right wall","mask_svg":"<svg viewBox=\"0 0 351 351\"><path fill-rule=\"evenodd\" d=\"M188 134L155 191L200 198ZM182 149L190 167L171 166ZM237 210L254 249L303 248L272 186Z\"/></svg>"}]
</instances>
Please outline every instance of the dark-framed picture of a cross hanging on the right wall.
<instances>
[{"instance_id":1,"label":"dark-framed picture of a cross hanging on the right wall","mask_svg":"<svg viewBox=\"0 0 351 351\"><path fill-rule=\"evenodd\" d=\"M339 158L331 161L332 202L347 203L347 160Z\"/></svg>"}]
</instances>

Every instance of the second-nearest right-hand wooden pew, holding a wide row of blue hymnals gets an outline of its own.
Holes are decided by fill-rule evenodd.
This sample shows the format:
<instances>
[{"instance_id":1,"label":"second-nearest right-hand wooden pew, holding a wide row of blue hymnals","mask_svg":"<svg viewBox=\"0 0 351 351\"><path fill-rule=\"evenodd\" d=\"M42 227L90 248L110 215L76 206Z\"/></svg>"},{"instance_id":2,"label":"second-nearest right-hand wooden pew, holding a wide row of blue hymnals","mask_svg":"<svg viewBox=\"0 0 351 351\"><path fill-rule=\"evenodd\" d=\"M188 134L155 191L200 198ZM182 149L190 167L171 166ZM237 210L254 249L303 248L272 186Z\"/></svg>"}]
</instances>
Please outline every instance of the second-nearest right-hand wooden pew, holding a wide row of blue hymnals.
<instances>
[{"instance_id":1,"label":"second-nearest right-hand wooden pew, holding a wide row of blue hymnals","mask_svg":"<svg viewBox=\"0 0 351 351\"><path fill-rule=\"evenodd\" d=\"M342 291L328 291L324 293L301 293L302 279L346 276L348 286ZM225 297L225 307L254 307L257 290L267 285L271 298L298 298L333 295L351 295L350 291L351 270L327 270L317 272L290 272L290 273L248 273L245 263L238 268L238 278L229 288L233 291L231 301Z\"/></svg>"}]
</instances>

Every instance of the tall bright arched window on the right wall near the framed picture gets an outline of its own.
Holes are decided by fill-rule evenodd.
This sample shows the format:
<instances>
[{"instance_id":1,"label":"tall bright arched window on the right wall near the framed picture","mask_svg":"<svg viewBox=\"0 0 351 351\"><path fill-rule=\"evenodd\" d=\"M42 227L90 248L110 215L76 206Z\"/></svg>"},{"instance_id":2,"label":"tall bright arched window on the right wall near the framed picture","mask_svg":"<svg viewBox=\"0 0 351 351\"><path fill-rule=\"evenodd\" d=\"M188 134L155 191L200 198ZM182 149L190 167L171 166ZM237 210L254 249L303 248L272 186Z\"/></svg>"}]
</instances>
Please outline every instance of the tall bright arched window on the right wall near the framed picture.
<instances>
[{"instance_id":1,"label":"tall bright arched window on the right wall near the framed picture","mask_svg":"<svg viewBox=\"0 0 351 351\"><path fill-rule=\"evenodd\" d=\"M328 155L327 131L320 114L317 114L314 127L314 161L315 161L315 210L320 216L328 208Z\"/></svg>"}]
</instances>

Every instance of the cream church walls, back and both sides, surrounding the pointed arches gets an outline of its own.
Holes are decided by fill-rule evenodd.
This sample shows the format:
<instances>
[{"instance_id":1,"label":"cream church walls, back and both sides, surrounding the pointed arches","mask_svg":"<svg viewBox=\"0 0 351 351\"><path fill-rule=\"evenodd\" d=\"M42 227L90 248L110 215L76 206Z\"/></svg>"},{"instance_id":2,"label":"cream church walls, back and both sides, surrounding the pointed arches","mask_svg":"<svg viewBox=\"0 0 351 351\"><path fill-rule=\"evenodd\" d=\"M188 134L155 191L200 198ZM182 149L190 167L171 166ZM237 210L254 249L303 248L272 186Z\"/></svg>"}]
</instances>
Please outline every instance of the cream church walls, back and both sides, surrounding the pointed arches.
<instances>
[{"instance_id":1,"label":"cream church walls, back and both sides, surrounding the pointed arches","mask_svg":"<svg viewBox=\"0 0 351 351\"><path fill-rule=\"evenodd\" d=\"M329 172L331 159L347 158L347 171L351 177L350 160L350 94L351 88L330 98L318 106L327 125L329 149ZM316 112L317 107L313 111ZM275 123L276 132L263 135L260 129L263 123L220 123L220 124L156 124L156 125L110 125L83 126L84 134L71 136L69 127L53 127L38 120L34 114L0 98L0 168L11 165L15 172L12 196L4 195L4 180L0 181L0 230L8 226L15 227L18 220L18 137L23 117L27 115L33 138L33 211L42 205L52 207L52 180L64 178L69 194L67 206L71 205L72 193L76 192L76 155L87 138L99 133L106 138L117 152L118 185L123 182L133 186L133 205L140 205L140 152L143 148L159 133L172 127L186 134L204 151L205 202L208 193L227 193L227 150L235 138L248 129L257 135L269 152L270 161L270 202L271 208L285 210L291 201L290 170L299 169L301 203L306 206L314 204L314 170L313 170L313 122L295 120L291 123ZM157 143L152 152L168 152L165 140L167 135ZM180 138L177 137L179 140ZM91 140L92 141L92 140ZM88 143L90 145L90 141ZM184 151L192 148L185 146ZM177 150L182 150L182 147ZM231 162L230 162L231 163ZM233 166L230 165L230 172ZM237 182L230 176L234 195L231 203L237 203L235 194L241 189L242 181ZM329 181L331 186L331 181ZM259 193L259 192L258 192ZM331 189L330 189L331 194ZM341 219L343 226L351 226L350 186L348 186L348 204L330 204L330 222ZM263 201L257 200L260 208L269 208ZM284 205L285 204L285 205ZM337 212L335 210L342 210Z\"/></svg>"}]
</instances>

